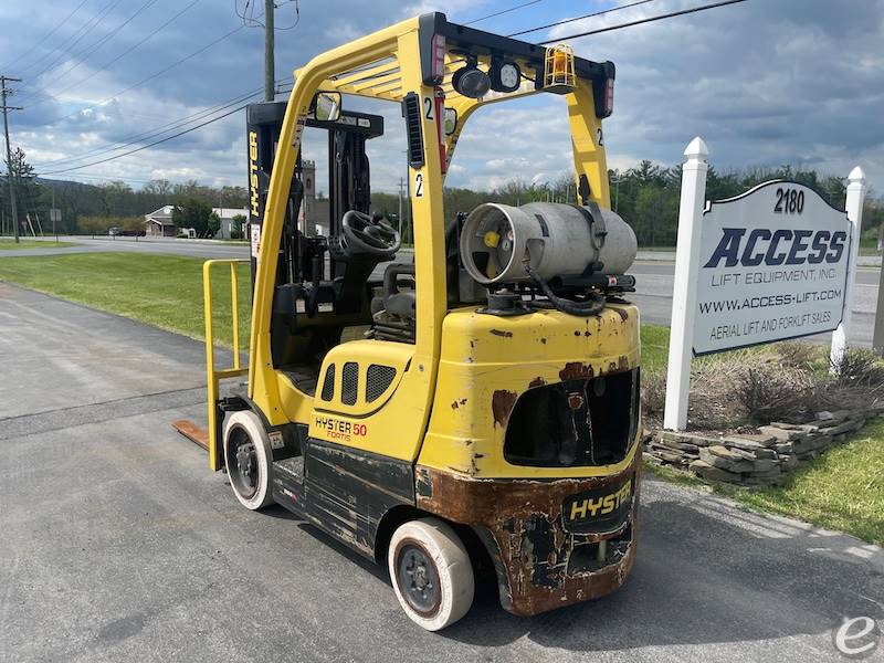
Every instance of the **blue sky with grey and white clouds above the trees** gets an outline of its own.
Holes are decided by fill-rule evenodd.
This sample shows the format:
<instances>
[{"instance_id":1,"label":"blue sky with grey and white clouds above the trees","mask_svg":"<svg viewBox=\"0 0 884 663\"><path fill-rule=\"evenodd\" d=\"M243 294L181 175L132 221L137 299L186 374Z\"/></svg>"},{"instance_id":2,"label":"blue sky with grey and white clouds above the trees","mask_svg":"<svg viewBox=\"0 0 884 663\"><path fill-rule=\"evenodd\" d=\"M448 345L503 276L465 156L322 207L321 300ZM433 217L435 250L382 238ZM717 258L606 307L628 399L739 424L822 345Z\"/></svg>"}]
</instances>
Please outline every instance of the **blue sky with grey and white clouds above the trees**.
<instances>
[{"instance_id":1,"label":"blue sky with grey and white clouds above the trees","mask_svg":"<svg viewBox=\"0 0 884 663\"><path fill-rule=\"evenodd\" d=\"M241 8L244 1L239 0ZM707 1L654 0L524 39L562 36ZM263 32L244 28L123 92L242 24L232 0L196 0L185 9L191 2L0 3L6 28L0 72L24 78L13 98L25 109L11 117L12 141L39 171L94 160L59 159L98 150L262 85ZM325 49L421 11L438 9L467 22L522 2L301 0L299 23L276 35L276 75L288 76ZM540 0L475 27L508 33L621 3ZM278 25L293 22L294 7L288 2L276 10ZM102 69L182 10L131 53ZM72 45L84 25L92 29ZM796 164L845 176L861 164L873 188L884 192L884 0L748 0L571 43L582 56L618 65L614 116L606 123L612 167L627 168L642 158L677 162L685 145L702 135L719 170ZM391 136L372 146L372 175L376 188L393 190L402 175L400 120L396 107L385 115ZM54 177L123 179L135 187L154 178L244 185L243 125L239 113L157 148ZM308 143L305 149L318 148ZM95 158L105 156L112 155ZM460 143L449 181L481 188L513 178L554 179L568 168L569 158L561 99L543 95L477 114Z\"/></svg>"}]
</instances>

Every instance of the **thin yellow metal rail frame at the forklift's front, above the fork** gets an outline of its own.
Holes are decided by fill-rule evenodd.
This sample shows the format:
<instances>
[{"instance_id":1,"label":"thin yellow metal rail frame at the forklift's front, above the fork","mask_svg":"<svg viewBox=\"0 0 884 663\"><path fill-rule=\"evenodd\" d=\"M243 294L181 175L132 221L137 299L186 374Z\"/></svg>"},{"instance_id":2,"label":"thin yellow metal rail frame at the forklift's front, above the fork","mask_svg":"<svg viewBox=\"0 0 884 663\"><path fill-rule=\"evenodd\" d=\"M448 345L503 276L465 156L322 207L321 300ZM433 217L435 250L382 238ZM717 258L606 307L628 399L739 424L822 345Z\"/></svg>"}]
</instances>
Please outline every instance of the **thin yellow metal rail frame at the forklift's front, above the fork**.
<instances>
[{"instance_id":1,"label":"thin yellow metal rail frame at the forklift's front, above the fork","mask_svg":"<svg viewBox=\"0 0 884 663\"><path fill-rule=\"evenodd\" d=\"M218 439L219 420L219 391L221 380L235 378L249 372L249 367L240 365L240 312L236 277L236 265L248 264L249 260L207 260L202 263L202 299L203 315L206 316L206 391L209 410L209 466L221 469L221 446ZM212 329L212 267L215 265L230 265L230 311L233 325L233 367L215 368L214 366L214 333Z\"/></svg>"}]
</instances>

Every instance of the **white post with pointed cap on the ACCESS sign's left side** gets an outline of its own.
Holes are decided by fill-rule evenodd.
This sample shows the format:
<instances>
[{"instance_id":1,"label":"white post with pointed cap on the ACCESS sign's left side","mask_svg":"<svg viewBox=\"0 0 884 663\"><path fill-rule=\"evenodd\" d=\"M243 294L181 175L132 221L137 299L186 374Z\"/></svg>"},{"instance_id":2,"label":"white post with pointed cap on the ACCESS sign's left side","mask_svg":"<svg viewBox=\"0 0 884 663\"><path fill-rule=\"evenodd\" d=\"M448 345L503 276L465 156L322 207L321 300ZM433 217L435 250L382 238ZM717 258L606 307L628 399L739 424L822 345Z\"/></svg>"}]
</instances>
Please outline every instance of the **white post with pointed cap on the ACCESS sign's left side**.
<instances>
[{"instance_id":1,"label":"white post with pointed cap on the ACCESS sign's left side","mask_svg":"<svg viewBox=\"0 0 884 663\"><path fill-rule=\"evenodd\" d=\"M697 136L684 150L682 201L675 244L675 282L672 295L672 328L666 371L666 409L663 425L683 431L687 427L687 394L691 391L691 352L694 345L694 314L699 262L699 228L706 200L709 150Z\"/></svg>"}]
</instances>

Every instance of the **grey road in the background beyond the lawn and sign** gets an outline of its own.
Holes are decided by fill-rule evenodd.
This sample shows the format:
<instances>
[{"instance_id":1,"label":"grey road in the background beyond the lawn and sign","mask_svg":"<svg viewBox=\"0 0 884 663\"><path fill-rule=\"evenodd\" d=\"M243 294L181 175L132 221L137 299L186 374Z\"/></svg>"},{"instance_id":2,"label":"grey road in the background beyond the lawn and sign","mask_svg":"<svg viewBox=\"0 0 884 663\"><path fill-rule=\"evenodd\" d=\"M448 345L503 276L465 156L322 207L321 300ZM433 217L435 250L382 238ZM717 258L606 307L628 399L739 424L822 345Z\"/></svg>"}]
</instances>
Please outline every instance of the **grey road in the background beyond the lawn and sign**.
<instances>
[{"instance_id":1,"label":"grey road in the background beyond the lawn and sign","mask_svg":"<svg viewBox=\"0 0 884 663\"><path fill-rule=\"evenodd\" d=\"M141 253L166 253L204 259L249 257L249 246L238 243L206 242L193 240L149 239L140 238L62 238L64 241L77 242L78 246L55 249L48 241L46 249L24 249L21 251L2 251L0 260L15 255L53 255L65 253L88 253L95 251L130 251ZM403 249L399 261L412 260L411 251ZM671 262L671 253L640 251L639 261L630 270L638 280L636 293L631 298L639 305L642 320L656 325L670 325L672 314L672 290L675 265ZM660 260L657 260L660 259ZM874 259L865 257L865 262ZM861 266L854 284L853 318L849 340L862 345L872 345L874 332L874 311L877 305L877 288L881 271L878 267ZM382 269L376 270L375 276L380 278ZM815 337L827 340L830 336Z\"/></svg>"}]
</instances>

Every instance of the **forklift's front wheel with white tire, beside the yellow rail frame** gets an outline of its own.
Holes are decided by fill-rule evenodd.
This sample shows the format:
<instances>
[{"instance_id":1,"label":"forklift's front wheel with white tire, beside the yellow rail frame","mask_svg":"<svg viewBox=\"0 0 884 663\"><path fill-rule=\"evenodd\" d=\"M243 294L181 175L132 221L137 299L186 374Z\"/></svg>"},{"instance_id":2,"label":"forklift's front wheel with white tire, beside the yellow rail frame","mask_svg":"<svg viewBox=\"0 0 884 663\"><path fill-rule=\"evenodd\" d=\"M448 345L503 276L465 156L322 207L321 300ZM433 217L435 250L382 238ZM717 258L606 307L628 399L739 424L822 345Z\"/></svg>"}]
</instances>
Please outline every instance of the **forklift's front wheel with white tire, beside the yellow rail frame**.
<instances>
[{"instance_id":1,"label":"forklift's front wheel with white tire, beside the yellow rail frame","mask_svg":"<svg viewBox=\"0 0 884 663\"><path fill-rule=\"evenodd\" d=\"M245 508L273 503L270 488L271 449L267 432L254 412L233 412L224 422L224 465L233 494Z\"/></svg>"}]
</instances>

